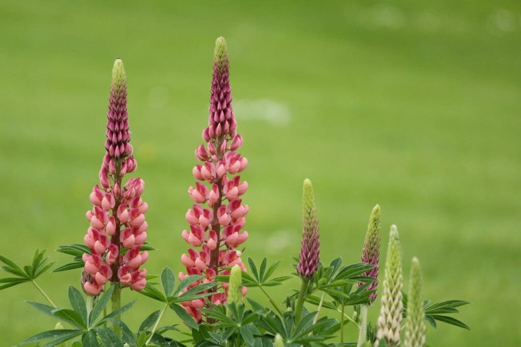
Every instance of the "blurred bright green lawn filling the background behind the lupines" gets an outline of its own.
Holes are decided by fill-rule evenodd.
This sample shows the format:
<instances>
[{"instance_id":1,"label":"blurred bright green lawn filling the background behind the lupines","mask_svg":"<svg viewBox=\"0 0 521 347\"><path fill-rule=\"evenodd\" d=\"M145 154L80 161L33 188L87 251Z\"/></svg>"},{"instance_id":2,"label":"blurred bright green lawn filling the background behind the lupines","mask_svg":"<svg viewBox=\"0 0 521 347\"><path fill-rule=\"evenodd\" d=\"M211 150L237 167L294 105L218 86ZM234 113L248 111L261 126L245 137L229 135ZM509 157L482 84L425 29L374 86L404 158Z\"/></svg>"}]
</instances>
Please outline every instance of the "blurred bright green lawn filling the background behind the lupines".
<instances>
[{"instance_id":1,"label":"blurred bright green lawn filling the background behind the lupines","mask_svg":"<svg viewBox=\"0 0 521 347\"><path fill-rule=\"evenodd\" d=\"M21 2L0 4L0 254L80 243L104 154L110 72L128 75L137 174L146 181L146 268L182 270L193 151L207 122L215 39L225 36L250 188L244 256L282 259L300 239L314 183L321 257L357 262L371 208L382 253L398 225L404 273L419 257L425 295L465 299L468 332L428 328L432 346L521 345L521 4L395 2ZM382 255L383 257L384 255ZM79 270L45 275L66 305ZM297 280L271 292L282 300ZM263 300L255 289L249 295ZM379 296L380 297L380 296ZM132 328L159 305L138 298ZM2 345L55 322L0 293ZM370 310L375 319L377 308ZM164 323L176 323L168 312ZM355 339L353 327L346 328Z\"/></svg>"}]
</instances>

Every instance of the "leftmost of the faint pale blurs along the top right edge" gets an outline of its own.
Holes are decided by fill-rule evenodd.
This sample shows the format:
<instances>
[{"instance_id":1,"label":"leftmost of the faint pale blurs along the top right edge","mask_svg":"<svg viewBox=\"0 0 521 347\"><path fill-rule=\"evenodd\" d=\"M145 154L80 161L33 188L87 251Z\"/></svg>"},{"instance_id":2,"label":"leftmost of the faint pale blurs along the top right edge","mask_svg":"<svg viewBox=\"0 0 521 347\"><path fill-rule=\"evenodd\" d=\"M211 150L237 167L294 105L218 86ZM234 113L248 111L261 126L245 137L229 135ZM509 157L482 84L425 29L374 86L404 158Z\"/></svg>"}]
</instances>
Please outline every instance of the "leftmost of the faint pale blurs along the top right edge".
<instances>
[{"instance_id":1,"label":"leftmost of the faint pale blurs along the top right edge","mask_svg":"<svg viewBox=\"0 0 521 347\"><path fill-rule=\"evenodd\" d=\"M376 4L359 11L358 20L368 27L399 29L405 25L405 14L398 7Z\"/></svg>"}]
</instances>

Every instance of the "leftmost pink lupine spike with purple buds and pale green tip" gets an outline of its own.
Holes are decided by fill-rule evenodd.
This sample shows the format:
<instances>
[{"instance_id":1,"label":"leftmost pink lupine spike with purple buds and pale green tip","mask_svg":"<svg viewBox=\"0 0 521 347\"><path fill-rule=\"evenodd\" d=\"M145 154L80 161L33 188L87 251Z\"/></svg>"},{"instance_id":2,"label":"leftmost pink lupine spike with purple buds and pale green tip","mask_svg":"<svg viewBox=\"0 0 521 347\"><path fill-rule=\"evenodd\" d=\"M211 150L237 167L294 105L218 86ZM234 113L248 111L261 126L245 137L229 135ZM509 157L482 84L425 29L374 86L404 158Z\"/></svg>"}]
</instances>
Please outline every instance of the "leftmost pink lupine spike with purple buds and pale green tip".
<instances>
[{"instance_id":1,"label":"leftmost pink lupine spike with purple buds and pale green tip","mask_svg":"<svg viewBox=\"0 0 521 347\"><path fill-rule=\"evenodd\" d=\"M91 226L83 239L92 252L83 254L81 280L89 295L100 294L108 281L133 290L146 285L146 270L139 269L148 259L148 252L140 251L148 228L144 216L148 205L141 199L145 183L138 177L122 185L123 177L135 171L138 164L129 143L127 77L120 59L112 70L107 118L106 154L100 184L90 195L93 208L86 217Z\"/></svg>"}]
</instances>

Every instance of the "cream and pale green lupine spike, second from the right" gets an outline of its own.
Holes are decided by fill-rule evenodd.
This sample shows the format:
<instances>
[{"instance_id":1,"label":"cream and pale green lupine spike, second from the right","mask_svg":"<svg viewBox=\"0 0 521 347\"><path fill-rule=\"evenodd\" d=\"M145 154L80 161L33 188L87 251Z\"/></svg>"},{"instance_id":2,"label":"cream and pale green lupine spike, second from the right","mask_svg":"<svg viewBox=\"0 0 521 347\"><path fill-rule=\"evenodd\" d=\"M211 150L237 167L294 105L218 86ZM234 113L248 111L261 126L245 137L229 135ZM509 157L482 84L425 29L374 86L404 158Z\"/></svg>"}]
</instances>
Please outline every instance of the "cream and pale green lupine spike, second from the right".
<instances>
[{"instance_id":1,"label":"cream and pale green lupine spike, second from the right","mask_svg":"<svg viewBox=\"0 0 521 347\"><path fill-rule=\"evenodd\" d=\"M391 226L385 277L383 279L383 293L381 299L380 316L378 317L378 331L375 346L380 340L385 340L389 347L400 345L400 332L403 313L403 275L402 250L396 226Z\"/></svg>"}]
</instances>

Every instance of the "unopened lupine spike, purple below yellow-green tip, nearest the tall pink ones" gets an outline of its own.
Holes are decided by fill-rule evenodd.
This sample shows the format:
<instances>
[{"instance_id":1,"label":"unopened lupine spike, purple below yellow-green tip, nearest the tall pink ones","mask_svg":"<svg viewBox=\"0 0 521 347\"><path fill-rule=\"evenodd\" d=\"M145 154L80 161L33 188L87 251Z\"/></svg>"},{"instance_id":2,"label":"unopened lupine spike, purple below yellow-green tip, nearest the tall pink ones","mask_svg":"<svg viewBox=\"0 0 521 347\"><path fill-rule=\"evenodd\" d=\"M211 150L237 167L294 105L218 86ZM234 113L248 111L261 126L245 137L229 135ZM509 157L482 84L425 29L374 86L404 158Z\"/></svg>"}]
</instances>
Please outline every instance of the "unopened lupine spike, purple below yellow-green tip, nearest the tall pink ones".
<instances>
[{"instance_id":1,"label":"unopened lupine spike, purple below yellow-green tip, nearest the tall pink ones","mask_svg":"<svg viewBox=\"0 0 521 347\"><path fill-rule=\"evenodd\" d=\"M311 279L318 267L320 240L318 236L317 208L313 185L304 180L302 188L302 244L299 254L297 273L303 279Z\"/></svg>"}]
</instances>

